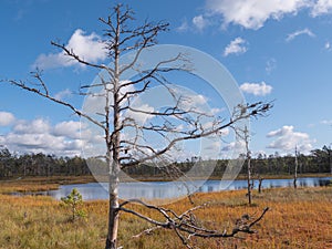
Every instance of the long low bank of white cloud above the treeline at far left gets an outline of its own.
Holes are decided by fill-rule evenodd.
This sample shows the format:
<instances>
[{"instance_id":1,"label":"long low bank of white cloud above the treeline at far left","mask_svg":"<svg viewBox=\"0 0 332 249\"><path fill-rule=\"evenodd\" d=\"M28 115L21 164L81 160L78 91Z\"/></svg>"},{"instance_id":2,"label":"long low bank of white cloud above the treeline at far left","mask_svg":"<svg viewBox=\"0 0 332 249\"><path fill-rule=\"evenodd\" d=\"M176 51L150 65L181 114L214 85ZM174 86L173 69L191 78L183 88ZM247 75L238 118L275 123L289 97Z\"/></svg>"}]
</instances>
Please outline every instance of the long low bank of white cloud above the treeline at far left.
<instances>
[{"instance_id":1,"label":"long low bank of white cloud above the treeline at far left","mask_svg":"<svg viewBox=\"0 0 332 249\"><path fill-rule=\"evenodd\" d=\"M1 136L1 144L12 152L61 156L81 155L82 148L95 142L90 129L82 128L80 122L66 121L51 125L43 118L15 121L11 129Z\"/></svg>"}]
</instances>

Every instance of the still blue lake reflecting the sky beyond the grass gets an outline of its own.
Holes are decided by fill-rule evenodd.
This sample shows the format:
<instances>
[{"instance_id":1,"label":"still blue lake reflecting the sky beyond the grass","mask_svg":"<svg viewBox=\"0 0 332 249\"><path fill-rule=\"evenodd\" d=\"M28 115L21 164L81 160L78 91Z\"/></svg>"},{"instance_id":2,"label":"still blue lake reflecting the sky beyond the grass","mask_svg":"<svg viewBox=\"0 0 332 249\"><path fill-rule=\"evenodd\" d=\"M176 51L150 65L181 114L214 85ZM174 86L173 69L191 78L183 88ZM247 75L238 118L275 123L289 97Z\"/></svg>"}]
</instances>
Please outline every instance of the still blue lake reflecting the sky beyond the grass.
<instances>
[{"instance_id":1,"label":"still blue lake reflecting the sky beyond the grass","mask_svg":"<svg viewBox=\"0 0 332 249\"><path fill-rule=\"evenodd\" d=\"M299 187L318 187L326 186L332 177L324 178L298 178ZM264 179L262 188L292 187L293 179ZM255 188L258 187L258 180L255 180ZM58 190L43 193L56 199L64 197L76 188L83 196L84 200L107 199L106 183L90 183L77 185L63 185ZM144 199L166 199L185 196L189 193L209 193L220 190L237 190L247 188L247 180L194 180L194 181L147 181L147 183L121 183L120 197L123 199L144 198Z\"/></svg>"}]
</instances>

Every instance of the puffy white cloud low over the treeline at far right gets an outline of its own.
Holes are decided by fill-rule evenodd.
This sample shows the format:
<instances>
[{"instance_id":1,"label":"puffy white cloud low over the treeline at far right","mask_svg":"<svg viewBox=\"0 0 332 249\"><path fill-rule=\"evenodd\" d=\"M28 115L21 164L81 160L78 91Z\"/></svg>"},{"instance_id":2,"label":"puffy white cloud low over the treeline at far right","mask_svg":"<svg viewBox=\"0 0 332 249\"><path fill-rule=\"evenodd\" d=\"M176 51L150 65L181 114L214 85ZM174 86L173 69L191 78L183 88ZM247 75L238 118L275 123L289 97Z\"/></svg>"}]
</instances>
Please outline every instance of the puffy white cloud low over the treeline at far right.
<instances>
[{"instance_id":1,"label":"puffy white cloud low over the treeline at far right","mask_svg":"<svg viewBox=\"0 0 332 249\"><path fill-rule=\"evenodd\" d=\"M307 133L294 132L294 127L288 125L268 133L267 137L276 138L268 145L268 148L280 149L286 153L294 152L295 147L298 147L301 153L309 153L314 142L310 139Z\"/></svg>"}]
</instances>

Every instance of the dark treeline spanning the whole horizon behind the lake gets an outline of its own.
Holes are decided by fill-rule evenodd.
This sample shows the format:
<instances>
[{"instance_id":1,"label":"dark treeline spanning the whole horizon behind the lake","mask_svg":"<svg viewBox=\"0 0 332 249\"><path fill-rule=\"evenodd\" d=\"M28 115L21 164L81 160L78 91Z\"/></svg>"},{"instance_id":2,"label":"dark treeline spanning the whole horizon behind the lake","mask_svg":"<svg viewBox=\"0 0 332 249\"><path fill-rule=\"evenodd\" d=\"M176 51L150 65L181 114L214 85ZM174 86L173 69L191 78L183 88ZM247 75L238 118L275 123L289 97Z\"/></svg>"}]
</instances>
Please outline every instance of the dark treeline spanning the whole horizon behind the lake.
<instances>
[{"instance_id":1,"label":"dark treeline spanning the whole horizon behind the lake","mask_svg":"<svg viewBox=\"0 0 332 249\"><path fill-rule=\"evenodd\" d=\"M91 175L86 163L87 160L79 156L59 157L42 153L13 155L7 148L0 148L0 177ZM324 146L322 149L312 151L310 155L299 154L298 162L299 174L331 173L332 151ZM100 164L100 167L105 167L106 172L105 163L101 160L97 163ZM211 164L215 167L212 176L222 176L228 165L228 160L201 160L200 158L193 157L181 163L168 165L169 167L158 168L148 165L139 165L137 167L126 168L125 172L132 176L143 177L165 176L167 174L180 175L179 173L190 170L194 165L196 165L196 170L205 170L205 166L208 164ZM247 164L245 163L241 174L247 173L246 165ZM292 175L295 168L294 165L294 155L280 156L278 153L269 156L259 154L256 158L251 159L253 175Z\"/></svg>"}]
</instances>

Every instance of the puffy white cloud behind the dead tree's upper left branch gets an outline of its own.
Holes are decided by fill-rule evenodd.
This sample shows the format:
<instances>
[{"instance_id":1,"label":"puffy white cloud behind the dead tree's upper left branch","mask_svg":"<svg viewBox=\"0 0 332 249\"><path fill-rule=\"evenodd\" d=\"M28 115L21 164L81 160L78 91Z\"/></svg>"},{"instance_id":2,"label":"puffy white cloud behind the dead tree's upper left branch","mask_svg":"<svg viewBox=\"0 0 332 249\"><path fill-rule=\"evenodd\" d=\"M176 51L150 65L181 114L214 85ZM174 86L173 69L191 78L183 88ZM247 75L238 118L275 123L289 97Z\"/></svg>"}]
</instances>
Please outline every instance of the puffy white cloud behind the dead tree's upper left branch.
<instances>
[{"instance_id":1,"label":"puffy white cloud behind the dead tree's upper left branch","mask_svg":"<svg viewBox=\"0 0 332 249\"><path fill-rule=\"evenodd\" d=\"M81 59L95 63L106 59L105 45L101 42L101 38L91 33L85 35L85 32L81 29L75 30L70 38L66 49L73 50ZM41 54L35 60L33 68L40 69L54 69L60 66L71 66L79 64L75 60L66 56L63 52Z\"/></svg>"}]
</instances>

